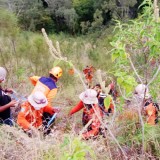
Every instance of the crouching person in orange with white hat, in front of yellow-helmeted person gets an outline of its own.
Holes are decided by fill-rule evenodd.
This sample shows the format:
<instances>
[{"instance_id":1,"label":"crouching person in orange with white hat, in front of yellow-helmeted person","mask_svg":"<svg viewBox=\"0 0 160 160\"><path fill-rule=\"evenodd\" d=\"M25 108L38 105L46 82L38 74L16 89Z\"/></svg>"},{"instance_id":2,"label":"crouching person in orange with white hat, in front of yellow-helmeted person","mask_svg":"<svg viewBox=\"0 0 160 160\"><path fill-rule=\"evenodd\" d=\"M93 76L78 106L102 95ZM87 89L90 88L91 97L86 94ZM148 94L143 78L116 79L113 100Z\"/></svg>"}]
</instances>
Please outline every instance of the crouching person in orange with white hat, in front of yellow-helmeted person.
<instances>
[{"instance_id":1,"label":"crouching person in orange with white hat, in front of yellow-helmeted person","mask_svg":"<svg viewBox=\"0 0 160 160\"><path fill-rule=\"evenodd\" d=\"M32 133L37 129L46 128L43 126L43 113L47 112L53 115L54 109L47 106L46 96L36 91L28 97L28 101L21 105L21 111L18 114L17 123L25 132Z\"/></svg>"}]
</instances>

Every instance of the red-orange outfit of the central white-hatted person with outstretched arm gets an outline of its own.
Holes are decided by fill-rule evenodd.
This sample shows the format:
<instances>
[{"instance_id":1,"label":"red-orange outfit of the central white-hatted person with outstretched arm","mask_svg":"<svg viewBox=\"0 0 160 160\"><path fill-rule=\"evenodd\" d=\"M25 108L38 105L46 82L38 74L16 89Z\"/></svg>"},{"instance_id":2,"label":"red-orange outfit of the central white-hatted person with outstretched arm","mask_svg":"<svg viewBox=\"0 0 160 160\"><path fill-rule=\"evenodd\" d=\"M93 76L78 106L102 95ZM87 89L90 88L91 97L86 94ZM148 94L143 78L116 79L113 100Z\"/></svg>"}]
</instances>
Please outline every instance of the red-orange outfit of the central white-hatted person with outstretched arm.
<instances>
[{"instance_id":1,"label":"red-orange outfit of the central white-hatted person with outstretched arm","mask_svg":"<svg viewBox=\"0 0 160 160\"><path fill-rule=\"evenodd\" d=\"M101 125L99 118L102 118L102 111L99 108L99 106L94 105L94 108L98 114L98 116L97 116L97 114L95 113L93 108L87 109L84 106L83 102L80 101L74 108L71 109L69 114L72 115L72 114L78 112L79 110L81 110L82 108L83 108L83 119L82 119L83 124L86 125L92 119L92 123L88 127L88 131L82 134L84 139L88 139L88 138L93 137L99 133L99 129L100 129L100 125Z\"/></svg>"}]
</instances>

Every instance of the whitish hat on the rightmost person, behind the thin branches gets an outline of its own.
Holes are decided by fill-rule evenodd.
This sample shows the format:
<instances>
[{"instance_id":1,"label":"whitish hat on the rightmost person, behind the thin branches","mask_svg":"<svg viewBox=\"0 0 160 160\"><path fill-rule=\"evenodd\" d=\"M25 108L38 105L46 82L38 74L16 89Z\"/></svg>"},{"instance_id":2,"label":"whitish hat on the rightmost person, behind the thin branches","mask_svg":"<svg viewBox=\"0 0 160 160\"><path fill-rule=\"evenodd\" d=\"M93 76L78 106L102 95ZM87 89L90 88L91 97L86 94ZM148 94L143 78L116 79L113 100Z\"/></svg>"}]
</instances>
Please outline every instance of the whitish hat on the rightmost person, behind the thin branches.
<instances>
[{"instance_id":1,"label":"whitish hat on the rightmost person, behind the thin branches","mask_svg":"<svg viewBox=\"0 0 160 160\"><path fill-rule=\"evenodd\" d=\"M144 84L139 84L136 88L135 88L135 94L137 94L137 96L139 98L145 98L145 99L149 99L151 98L151 95L149 94L149 90L147 88L146 85ZM144 97L145 96L145 97Z\"/></svg>"}]
</instances>

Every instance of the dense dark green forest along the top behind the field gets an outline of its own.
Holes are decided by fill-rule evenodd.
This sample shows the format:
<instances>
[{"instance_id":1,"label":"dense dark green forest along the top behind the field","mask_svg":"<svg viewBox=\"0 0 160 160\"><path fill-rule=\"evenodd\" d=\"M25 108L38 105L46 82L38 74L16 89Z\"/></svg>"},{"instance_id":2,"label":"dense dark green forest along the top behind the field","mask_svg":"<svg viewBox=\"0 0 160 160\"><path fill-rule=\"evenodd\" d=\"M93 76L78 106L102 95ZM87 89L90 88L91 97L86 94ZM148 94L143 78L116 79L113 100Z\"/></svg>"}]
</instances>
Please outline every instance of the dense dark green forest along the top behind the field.
<instances>
[{"instance_id":1,"label":"dense dark green forest along the top behind the field","mask_svg":"<svg viewBox=\"0 0 160 160\"><path fill-rule=\"evenodd\" d=\"M0 0L0 6L18 17L25 30L87 33L111 25L112 20L135 18L142 0Z\"/></svg>"}]
</instances>

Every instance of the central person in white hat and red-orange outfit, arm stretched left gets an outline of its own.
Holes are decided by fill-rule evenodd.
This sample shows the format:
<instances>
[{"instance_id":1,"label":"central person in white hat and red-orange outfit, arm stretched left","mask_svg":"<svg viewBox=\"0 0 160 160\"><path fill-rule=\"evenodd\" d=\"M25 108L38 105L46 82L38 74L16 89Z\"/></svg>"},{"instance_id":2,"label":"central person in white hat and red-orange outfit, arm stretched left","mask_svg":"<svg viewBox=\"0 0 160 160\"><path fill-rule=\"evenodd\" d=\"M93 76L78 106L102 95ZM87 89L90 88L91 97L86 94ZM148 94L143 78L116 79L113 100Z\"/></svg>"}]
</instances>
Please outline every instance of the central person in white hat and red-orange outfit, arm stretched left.
<instances>
[{"instance_id":1,"label":"central person in white hat and red-orange outfit, arm stretched left","mask_svg":"<svg viewBox=\"0 0 160 160\"><path fill-rule=\"evenodd\" d=\"M71 116L83 109L83 125L86 125L90 120L92 120L87 131L82 133L82 138L88 139L96 136L100 131L102 111L98 106L97 92L95 90L87 89L79 95L79 98L81 101L71 109L69 115Z\"/></svg>"}]
</instances>

